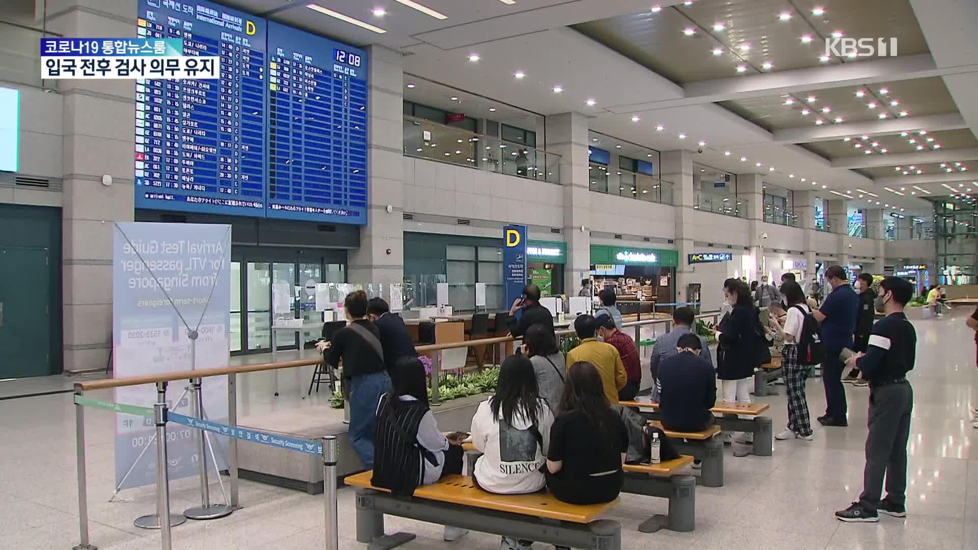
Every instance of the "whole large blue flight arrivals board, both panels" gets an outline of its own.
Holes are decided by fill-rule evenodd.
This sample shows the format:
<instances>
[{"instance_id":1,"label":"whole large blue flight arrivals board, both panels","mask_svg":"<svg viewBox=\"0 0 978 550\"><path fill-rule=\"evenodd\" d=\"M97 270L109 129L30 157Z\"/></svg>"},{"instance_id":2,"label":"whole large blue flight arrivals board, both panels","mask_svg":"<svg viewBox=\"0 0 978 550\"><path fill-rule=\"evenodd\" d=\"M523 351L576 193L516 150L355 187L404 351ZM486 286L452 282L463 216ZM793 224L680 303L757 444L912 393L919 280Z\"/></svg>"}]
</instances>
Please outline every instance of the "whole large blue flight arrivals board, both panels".
<instances>
[{"instance_id":1,"label":"whole large blue flight arrivals board, both panels","mask_svg":"<svg viewBox=\"0 0 978 550\"><path fill-rule=\"evenodd\" d=\"M136 207L367 223L367 55L203 0L139 0L138 35L220 80L136 83Z\"/></svg>"}]
</instances>

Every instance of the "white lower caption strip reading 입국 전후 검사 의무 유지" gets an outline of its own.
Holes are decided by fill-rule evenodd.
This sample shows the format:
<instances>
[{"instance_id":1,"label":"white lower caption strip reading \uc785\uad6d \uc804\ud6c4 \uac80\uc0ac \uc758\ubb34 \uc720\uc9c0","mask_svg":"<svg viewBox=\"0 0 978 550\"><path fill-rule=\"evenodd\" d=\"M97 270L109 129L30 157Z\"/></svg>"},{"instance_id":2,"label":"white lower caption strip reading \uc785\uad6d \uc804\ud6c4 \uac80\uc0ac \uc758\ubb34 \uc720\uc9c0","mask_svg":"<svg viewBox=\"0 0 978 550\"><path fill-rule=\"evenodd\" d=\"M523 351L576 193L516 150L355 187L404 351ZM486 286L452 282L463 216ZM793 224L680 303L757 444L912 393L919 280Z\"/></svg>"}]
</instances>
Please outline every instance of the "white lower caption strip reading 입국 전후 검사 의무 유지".
<instances>
[{"instance_id":1,"label":"white lower caption strip reading \uc785\uad6d \uc804\ud6c4 \uac80\uc0ac \uc758\ubb34 \uc720\uc9c0","mask_svg":"<svg viewBox=\"0 0 978 550\"><path fill-rule=\"evenodd\" d=\"M44 79L214 79L220 77L221 58L216 56L41 58L41 78Z\"/></svg>"}]
</instances>

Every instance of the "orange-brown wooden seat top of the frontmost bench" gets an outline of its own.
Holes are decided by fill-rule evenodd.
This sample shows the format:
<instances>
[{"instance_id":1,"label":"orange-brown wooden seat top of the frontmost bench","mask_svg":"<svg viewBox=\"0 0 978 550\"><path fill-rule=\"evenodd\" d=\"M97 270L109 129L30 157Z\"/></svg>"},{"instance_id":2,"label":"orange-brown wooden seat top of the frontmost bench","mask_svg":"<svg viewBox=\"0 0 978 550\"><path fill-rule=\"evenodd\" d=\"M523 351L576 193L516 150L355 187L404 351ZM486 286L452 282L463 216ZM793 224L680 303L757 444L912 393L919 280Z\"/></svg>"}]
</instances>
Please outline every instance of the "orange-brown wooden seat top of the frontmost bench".
<instances>
[{"instance_id":1,"label":"orange-brown wooden seat top of the frontmost bench","mask_svg":"<svg viewBox=\"0 0 978 550\"><path fill-rule=\"evenodd\" d=\"M390 492L387 489L373 486L370 482L373 476L373 472L363 472L347 477L344 482L355 487ZM441 480L430 485L419 485L415 490L415 497L472 508L549 518L574 524L591 523L617 506L619 502L618 499L615 499L604 504L567 504L557 500L553 494L544 491L530 494L495 494L476 487L472 483L472 479L467 476L454 474L443 476Z\"/></svg>"}]
</instances>

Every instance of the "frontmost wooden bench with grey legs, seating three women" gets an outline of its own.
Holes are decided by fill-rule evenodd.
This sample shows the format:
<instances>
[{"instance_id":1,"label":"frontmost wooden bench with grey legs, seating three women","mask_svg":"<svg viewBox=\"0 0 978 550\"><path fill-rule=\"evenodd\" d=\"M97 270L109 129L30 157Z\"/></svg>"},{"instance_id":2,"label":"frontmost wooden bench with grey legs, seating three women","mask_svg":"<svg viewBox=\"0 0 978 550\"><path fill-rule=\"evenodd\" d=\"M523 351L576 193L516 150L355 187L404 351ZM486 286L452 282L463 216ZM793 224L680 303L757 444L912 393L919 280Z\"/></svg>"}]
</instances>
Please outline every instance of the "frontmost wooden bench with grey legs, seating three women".
<instances>
[{"instance_id":1,"label":"frontmost wooden bench with grey legs, seating three women","mask_svg":"<svg viewBox=\"0 0 978 550\"><path fill-rule=\"evenodd\" d=\"M371 484L373 475L364 472L344 480L356 487L357 541L368 543L371 550L394 548L415 538L412 533L384 534L384 514L442 525L450 520L452 527L571 548L621 549L621 524L599 519L618 504L617 499L578 505L560 502L545 491L495 494L457 475L420 485L414 496L394 497Z\"/></svg>"}]
</instances>

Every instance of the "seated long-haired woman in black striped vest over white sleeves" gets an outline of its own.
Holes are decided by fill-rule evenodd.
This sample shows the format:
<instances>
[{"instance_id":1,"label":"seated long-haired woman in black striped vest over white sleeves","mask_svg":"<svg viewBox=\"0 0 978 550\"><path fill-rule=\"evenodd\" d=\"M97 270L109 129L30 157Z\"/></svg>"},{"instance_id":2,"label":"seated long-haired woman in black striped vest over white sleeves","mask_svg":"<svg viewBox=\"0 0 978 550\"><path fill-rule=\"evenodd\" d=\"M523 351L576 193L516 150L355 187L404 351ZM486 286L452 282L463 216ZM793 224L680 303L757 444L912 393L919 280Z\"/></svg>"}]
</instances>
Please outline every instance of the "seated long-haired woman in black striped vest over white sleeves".
<instances>
[{"instance_id":1,"label":"seated long-haired woman in black striped vest over white sleeves","mask_svg":"<svg viewBox=\"0 0 978 550\"><path fill-rule=\"evenodd\" d=\"M380 396L377 407L371 484L395 496L411 496L418 485L429 485L445 474L461 475L465 451L438 430L428 408L421 360L402 358L397 367L393 390ZM466 532L445 526L443 538L455 540Z\"/></svg>"}]
</instances>

